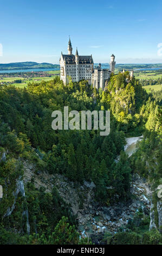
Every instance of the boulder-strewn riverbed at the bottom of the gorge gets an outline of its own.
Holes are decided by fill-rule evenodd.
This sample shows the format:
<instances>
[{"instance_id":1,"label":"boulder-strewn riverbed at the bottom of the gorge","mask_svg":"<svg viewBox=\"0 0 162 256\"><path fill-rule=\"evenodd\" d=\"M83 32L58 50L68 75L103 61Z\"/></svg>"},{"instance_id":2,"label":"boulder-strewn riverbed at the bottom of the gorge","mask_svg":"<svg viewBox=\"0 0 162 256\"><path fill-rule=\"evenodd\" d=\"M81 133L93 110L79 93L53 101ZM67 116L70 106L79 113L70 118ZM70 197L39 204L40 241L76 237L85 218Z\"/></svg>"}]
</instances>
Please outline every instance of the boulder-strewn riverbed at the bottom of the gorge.
<instances>
[{"instance_id":1,"label":"boulder-strewn riverbed at the bottom of the gorge","mask_svg":"<svg viewBox=\"0 0 162 256\"><path fill-rule=\"evenodd\" d=\"M115 203L111 206L100 206L93 202L87 208L78 212L79 231L82 236L90 234L103 234L106 231L115 233L124 227L136 211L142 208L148 215L150 213L151 190L148 184L139 175L134 175L131 183L131 193L136 199L126 203Z\"/></svg>"}]
</instances>

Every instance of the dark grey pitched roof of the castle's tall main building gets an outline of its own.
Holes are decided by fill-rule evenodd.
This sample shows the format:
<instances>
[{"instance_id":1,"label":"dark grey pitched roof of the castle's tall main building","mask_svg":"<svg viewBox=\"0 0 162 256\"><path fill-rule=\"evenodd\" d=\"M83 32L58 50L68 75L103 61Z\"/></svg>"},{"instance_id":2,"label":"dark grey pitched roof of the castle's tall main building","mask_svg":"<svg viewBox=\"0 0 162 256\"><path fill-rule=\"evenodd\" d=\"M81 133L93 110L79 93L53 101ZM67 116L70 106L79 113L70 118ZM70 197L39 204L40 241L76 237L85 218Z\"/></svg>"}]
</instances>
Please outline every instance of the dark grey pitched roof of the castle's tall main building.
<instances>
[{"instance_id":1,"label":"dark grey pitched roof of the castle's tall main building","mask_svg":"<svg viewBox=\"0 0 162 256\"><path fill-rule=\"evenodd\" d=\"M62 54L63 60L66 64L75 64L75 55L74 54ZM92 56L79 56L79 64L92 64Z\"/></svg>"}]
</instances>

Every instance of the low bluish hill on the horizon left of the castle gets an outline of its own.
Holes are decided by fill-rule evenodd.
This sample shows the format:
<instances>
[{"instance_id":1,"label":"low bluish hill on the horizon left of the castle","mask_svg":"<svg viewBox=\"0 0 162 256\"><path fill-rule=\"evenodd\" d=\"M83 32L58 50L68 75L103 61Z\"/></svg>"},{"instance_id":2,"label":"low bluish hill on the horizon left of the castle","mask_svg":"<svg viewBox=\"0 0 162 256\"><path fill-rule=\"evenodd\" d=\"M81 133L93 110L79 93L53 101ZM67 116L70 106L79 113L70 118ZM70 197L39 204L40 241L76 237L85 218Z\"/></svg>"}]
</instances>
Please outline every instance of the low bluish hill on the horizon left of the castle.
<instances>
[{"instance_id":1,"label":"low bluish hill on the horizon left of the castle","mask_svg":"<svg viewBox=\"0 0 162 256\"><path fill-rule=\"evenodd\" d=\"M60 65L37 62L14 62L0 64L0 70L18 70L18 69L59 69Z\"/></svg>"}]
</instances>

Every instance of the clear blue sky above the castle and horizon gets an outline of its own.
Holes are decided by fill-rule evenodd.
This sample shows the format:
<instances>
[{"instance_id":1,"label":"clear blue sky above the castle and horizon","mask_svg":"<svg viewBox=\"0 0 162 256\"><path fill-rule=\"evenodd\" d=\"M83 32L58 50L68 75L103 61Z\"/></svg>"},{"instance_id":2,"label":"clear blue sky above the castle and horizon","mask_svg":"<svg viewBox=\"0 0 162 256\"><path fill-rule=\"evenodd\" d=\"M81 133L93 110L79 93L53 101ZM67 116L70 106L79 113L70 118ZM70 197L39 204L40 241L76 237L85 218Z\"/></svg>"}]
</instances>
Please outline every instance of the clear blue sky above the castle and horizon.
<instances>
[{"instance_id":1,"label":"clear blue sky above the castle and horizon","mask_svg":"<svg viewBox=\"0 0 162 256\"><path fill-rule=\"evenodd\" d=\"M68 35L73 53L94 62L114 53L117 63L162 63L161 0L1 0L0 9L0 63L57 64Z\"/></svg>"}]
</instances>

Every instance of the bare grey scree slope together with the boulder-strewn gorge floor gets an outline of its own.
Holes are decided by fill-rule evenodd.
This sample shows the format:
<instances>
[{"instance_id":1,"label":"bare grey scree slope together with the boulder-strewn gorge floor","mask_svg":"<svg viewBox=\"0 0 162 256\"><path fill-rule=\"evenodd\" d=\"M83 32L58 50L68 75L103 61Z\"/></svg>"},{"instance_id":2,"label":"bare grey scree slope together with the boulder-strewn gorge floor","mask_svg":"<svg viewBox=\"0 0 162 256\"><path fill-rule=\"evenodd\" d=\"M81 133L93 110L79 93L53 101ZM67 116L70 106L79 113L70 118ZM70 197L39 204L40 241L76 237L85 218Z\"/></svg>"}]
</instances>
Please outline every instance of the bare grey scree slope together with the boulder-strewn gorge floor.
<instances>
[{"instance_id":1,"label":"bare grey scree slope together with the boulder-strewn gorge floor","mask_svg":"<svg viewBox=\"0 0 162 256\"><path fill-rule=\"evenodd\" d=\"M85 182L83 185L74 185L74 182L60 174L49 175L45 172L36 175L33 167L25 165L24 182L34 178L35 186L46 188L46 192L51 192L56 186L63 200L71 205L73 214L77 216L78 231L80 235L99 236L104 231L114 234L119 227L125 226L130 218L133 218L135 212L142 206L148 215L150 212L151 191L146 182L139 175L132 177L131 193L137 196L137 199L130 199L125 203L116 202L111 206L103 206L94 200L93 182ZM103 228L104 227L104 228ZM82 230L85 230L83 233ZM96 239L96 238L95 238ZM93 241L94 243L94 241Z\"/></svg>"}]
</instances>

